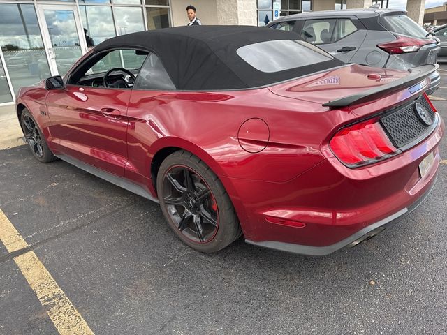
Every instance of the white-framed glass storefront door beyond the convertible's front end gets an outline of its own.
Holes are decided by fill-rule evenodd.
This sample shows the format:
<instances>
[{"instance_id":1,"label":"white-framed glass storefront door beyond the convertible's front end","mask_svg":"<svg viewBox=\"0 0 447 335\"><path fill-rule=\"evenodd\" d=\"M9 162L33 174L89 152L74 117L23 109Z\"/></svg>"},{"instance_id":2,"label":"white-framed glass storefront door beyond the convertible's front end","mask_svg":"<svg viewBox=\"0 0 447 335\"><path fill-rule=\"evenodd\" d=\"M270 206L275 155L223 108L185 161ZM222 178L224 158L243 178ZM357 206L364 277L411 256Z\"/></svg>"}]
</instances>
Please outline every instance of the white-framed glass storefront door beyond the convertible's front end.
<instances>
[{"instance_id":1,"label":"white-framed glass storefront door beyond the convertible's front end","mask_svg":"<svg viewBox=\"0 0 447 335\"><path fill-rule=\"evenodd\" d=\"M71 5L38 5L38 16L51 73L65 75L87 52L78 11Z\"/></svg>"}]
</instances>

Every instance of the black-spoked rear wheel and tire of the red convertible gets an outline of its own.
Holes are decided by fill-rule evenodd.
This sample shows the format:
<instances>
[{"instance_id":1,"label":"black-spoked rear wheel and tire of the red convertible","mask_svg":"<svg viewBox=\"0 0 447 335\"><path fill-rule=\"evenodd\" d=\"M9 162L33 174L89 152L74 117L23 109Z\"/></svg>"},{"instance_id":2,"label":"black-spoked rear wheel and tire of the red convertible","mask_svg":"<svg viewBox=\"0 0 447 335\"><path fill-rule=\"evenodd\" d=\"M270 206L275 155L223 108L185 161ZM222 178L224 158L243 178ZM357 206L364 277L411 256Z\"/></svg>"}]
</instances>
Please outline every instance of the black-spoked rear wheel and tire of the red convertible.
<instances>
[{"instance_id":1,"label":"black-spoked rear wheel and tire of the red convertible","mask_svg":"<svg viewBox=\"0 0 447 335\"><path fill-rule=\"evenodd\" d=\"M213 253L242 234L221 181L193 154L179 150L168 156L161 163L156 186L170 228L191 248Z\"/></svg>"}]
</instances>

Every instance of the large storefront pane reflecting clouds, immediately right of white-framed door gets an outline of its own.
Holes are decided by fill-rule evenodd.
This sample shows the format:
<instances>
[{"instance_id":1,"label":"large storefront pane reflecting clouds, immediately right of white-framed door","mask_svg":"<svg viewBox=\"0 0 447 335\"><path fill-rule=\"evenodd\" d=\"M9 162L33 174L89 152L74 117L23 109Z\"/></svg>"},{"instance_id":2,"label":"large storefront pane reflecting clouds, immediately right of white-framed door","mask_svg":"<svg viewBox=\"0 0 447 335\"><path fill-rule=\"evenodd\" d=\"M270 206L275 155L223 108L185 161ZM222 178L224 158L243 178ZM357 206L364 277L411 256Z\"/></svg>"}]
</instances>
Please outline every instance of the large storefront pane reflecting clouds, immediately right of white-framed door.
<instances>
[{"instance_id":1,"label":"large storefront pane reflecting clouds, immediately right of white-framed door","mask_svg":"<svg viewBox=\"0 0 447 335\"><path fill-rule=\"evenodd\" d=\"M85 35L91 38L90 43L87 43L89 48L115 37L112 8L109 6L79 6L79 8ZM86 37L86 40L89 38Z\"/></svg>"}]
</instances>

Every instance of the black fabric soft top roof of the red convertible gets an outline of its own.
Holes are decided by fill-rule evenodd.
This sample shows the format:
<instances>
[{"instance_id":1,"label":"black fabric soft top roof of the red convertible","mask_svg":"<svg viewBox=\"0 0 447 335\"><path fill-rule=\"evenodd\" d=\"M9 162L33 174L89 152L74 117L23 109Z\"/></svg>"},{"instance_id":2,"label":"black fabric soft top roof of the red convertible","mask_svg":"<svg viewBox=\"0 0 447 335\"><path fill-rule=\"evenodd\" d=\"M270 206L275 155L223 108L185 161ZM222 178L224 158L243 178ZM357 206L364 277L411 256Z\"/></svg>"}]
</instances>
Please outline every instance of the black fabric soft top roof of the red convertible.
<instances>
[{"instance_id":1,"label":"black fabric soft top roof of the red convertible","mask_svg":"<svg viewBox=\"0 0 447 335\"><path fill-rule=\"evenodd\" d=\"M297 40L298 34L248 26L191 26L140 31L97 45L94 53L131 48L155 52L177 89L244 89L281 82L342 63L336 59L276 73L264 73L239 57L244 45Z\"/></svg>"}]
</instances>

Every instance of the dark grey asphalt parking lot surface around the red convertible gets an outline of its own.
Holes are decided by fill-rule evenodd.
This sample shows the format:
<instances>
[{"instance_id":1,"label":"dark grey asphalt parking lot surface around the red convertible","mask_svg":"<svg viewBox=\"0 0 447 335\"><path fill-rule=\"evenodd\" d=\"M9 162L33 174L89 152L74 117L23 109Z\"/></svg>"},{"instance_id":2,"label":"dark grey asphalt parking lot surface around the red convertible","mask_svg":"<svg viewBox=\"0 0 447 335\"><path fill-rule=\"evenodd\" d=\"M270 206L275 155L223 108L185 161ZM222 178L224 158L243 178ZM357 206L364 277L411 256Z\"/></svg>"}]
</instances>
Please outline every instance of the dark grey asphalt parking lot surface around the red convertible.
<instances>
[{"instance_id":1,"label":"dark grey asphalt parking lot surface around the red convertible","mask_svg":"<svg viewBox=\"0 0 447 335\"><path fill-rule=\"evenodd\" d=\"M447 122L447 66L441 75L432 100ZM158 204L63 161L38 163L24 144L0 149L0 210L26 243L0 243L0 334L59 334L49 310L66 298L73 308L55 318L81 318L80 334L447 334L447 137L441 159L430 197L404 221L309 258L242 239L198 253ZM34 261L51 285L30 281Z\"/></svg>"}]
</instances>

